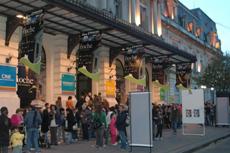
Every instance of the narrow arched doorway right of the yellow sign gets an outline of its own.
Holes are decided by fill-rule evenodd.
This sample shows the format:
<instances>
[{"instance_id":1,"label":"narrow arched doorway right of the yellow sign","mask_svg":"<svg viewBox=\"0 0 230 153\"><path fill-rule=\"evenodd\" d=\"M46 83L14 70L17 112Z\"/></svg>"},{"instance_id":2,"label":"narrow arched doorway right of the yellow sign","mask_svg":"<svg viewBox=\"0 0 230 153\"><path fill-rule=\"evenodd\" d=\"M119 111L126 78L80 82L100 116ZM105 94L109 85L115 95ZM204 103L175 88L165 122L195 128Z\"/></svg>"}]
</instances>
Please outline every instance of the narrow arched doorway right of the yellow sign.
<instances>
[{"instance_id":1,"label":"narrow arched doorway right of the yellow sign","mask_svg":"<svg viewBox=\"0 0 230 153\"><path fill-rule=\"evenodd\" d=\"M126 102L124 67L120 60L116 59L116 100L118 103Z\"/></svg>"}]
</instances>

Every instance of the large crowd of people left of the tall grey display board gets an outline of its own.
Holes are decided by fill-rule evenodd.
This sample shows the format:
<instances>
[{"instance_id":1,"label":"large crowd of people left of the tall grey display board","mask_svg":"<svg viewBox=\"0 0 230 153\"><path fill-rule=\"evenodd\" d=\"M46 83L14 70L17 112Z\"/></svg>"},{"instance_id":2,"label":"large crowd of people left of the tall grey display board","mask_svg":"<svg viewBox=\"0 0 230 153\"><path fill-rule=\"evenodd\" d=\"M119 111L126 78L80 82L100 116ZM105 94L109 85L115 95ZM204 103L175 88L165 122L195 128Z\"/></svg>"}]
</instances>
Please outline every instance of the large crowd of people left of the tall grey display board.
<instances>
[{"instance_id":1,"label":"large crowd of people left of the tall grey display board","mask_svg":"<svg viewBox=\"0 0 230 153\"><path fill-rule=\"evenodd\" d=\"M8 117L8 109L1 108L0 153L41 152L41 147L50 148L62 143L95 141L95 147L108 144L126 149L128 106L109 107L101 95L82 95L76 104L72 97L63 103L61 97L55 104L45 103L44 108L31 105L17 109Z\"/></svg>"}]
</instances>

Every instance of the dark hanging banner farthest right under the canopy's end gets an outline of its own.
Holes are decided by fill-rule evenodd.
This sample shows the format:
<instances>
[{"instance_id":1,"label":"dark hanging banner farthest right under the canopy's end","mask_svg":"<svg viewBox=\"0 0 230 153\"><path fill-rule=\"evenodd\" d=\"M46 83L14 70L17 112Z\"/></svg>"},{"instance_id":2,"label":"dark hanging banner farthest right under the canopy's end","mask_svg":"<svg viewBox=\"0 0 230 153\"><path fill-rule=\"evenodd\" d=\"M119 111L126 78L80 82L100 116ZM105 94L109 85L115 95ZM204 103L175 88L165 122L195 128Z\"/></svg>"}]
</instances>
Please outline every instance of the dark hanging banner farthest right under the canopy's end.
<instances>
[{"instance_id":1,"label":"dark hanging banner farthest right under the canopy's end","mask_svg":"<svg viewBox=\"0 0 230 153\"><path fill-rule=\"evenodd\" d=\"M176 85L183 85L188 87L190 85L191 64L178 64L176 65Z\"/></svg>"}]
</instances>

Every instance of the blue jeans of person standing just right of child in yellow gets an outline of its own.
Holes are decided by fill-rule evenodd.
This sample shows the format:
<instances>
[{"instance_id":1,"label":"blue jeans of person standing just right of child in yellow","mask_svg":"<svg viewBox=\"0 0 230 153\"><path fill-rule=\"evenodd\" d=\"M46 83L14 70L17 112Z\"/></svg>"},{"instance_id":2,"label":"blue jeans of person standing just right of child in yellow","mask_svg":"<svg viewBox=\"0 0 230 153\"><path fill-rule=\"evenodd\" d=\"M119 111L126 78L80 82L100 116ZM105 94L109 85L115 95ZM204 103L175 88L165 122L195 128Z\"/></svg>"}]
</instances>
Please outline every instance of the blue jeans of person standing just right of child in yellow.
<instances>
[{"instance_id":1,"label":"blue jeans of person standing just right of child in yellow","mask_svg":"<svg viewBox=\"0 0 230 153\"><path fill-rule=\"evenodd\" d=\"M40 152L38 146L39 131L36 128L27 129L27 150L29 151L32 148L32 144L35 147L35 152Z\"/></svg>"}]
</instances>

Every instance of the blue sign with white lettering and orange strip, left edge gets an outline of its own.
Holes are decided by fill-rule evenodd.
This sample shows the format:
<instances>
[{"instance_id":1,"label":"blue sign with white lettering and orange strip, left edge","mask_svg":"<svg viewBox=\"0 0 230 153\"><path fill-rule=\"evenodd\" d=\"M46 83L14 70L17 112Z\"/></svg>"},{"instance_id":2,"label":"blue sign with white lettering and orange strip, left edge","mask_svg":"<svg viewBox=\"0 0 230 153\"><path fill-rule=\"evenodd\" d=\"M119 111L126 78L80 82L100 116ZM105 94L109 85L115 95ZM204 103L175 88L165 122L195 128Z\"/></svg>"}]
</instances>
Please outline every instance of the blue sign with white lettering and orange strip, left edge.
<instances>
[{"instance_id":1,"label":"blue sign with white lettering and orange strip, left edge","mask_svg":"<svg viewBox=\"0 0 230 153\"><path fill-rule=\"evenodd\" d=\"M16 67L0 65L0 90L16 91Z\"/></svg>"}]
</instances>

